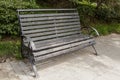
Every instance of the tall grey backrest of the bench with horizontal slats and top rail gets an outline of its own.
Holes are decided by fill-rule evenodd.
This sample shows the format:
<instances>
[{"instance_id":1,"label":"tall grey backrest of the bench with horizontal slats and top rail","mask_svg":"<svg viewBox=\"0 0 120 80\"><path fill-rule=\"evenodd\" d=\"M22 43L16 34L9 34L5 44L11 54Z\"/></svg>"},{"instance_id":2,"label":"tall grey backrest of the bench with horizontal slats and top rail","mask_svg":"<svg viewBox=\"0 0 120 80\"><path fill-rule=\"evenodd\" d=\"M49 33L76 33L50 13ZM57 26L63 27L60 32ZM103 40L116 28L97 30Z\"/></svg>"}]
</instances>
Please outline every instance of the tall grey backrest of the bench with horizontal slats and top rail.
<instances>
[{"instance_id":1,"label":"tall grey backrest of the bench with horizontal slats and top rail","mask_svg":"<svg viewBox=\"0 0 120 80\"><path fill-rule=\"evenodd\" d=\"M35 44L80 34L77 9L18 10L21 35L32 38Z\"/></svg>"}]
</instances>

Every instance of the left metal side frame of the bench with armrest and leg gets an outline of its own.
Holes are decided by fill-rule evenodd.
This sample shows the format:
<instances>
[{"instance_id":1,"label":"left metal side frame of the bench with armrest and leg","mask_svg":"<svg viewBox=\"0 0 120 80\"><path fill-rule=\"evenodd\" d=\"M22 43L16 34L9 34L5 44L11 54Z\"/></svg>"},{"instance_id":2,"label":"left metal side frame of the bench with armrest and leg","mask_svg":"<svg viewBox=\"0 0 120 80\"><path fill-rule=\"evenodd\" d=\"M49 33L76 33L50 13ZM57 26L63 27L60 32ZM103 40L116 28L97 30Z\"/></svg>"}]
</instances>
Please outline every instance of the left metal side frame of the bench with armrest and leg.
<instances>
[{"instance_id":1,"label":"left metal side frame of the bench with armrest and leg","mask_svg":"<svg viewBox=\"0 0 120 80\"><path fill-rule=\"evenodd\" d=\"M18 19L19 19L19 25L20 25L20 36L21 36L21 56L23 58L28 58L29 59L29 62L31 63L31 66L32 66L32 69L35 73L35 77L38 77L38 73L37 73L37 68L35 66L35 61L34 61L34 56L32 55L33 53L33 50L32 50L32 46L31 46L31 39L29 37L26 37L24 35L22 35L22 32L21 32L21 24L20 24L20 17L19 17L19 12L21 10L17 10L18 11ZM23 42L23 39L27 39L28 40L28 46L25 46L24 45L24 42ZM27 50L25 50L25 48L27 48ZM27 54L24 53L24 51L27 51Z\"/></svg>"}]
</instances>

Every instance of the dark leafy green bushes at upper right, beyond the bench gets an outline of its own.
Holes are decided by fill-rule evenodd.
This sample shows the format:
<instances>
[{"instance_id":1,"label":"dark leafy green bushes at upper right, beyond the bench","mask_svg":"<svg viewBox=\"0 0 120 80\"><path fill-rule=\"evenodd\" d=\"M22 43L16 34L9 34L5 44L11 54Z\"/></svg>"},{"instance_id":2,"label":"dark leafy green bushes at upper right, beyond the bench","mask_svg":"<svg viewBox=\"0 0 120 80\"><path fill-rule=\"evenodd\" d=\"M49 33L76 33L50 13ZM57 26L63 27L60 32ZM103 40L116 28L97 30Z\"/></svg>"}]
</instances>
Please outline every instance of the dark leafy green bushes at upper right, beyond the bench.
<instances>
[{"instance_id":1,"label":"dark leafy green bushes at upper right, beyond the bench","mask_svg":"<svg viewBox=\"0 0 120 80\"><path fill-rule=\"evenodd\" d=\"M82 23L94 19L107 23L120 22L120 0L70 0L77 4Z\"/></svg>"}]
</instances>

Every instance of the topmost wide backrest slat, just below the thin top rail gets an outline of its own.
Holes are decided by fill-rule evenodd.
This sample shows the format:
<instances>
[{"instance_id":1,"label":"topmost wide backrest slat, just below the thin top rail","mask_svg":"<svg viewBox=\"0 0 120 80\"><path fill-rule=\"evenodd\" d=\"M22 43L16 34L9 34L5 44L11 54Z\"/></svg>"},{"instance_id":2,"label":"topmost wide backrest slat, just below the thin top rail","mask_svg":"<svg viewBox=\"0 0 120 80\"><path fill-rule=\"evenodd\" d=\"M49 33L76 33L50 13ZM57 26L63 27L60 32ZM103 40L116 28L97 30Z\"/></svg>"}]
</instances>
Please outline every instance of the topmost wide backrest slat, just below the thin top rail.
<instances>
[{"instance_id":1,"label":"topmost wide backrest slat, just below the thin top rail","mask_svg":"<svg viewBox=\"0 0 120 80\"><path fill-rule=\"evenodd\" d=\"M49 17L49 16L69 16L69 15L78 15L78 13L49 13L49 14L24 14L19 15L20 18L31 18L31 17Z\"/></svg>"}]
</instances>

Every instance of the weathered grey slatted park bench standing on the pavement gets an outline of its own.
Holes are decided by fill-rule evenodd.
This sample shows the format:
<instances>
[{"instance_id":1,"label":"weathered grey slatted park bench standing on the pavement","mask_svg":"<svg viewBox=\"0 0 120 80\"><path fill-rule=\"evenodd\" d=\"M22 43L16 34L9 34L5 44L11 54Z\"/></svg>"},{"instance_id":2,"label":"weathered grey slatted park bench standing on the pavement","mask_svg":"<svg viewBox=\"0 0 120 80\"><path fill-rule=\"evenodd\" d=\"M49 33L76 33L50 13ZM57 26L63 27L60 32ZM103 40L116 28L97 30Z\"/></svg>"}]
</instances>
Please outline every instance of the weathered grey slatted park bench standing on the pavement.
<instances>
[{"instance_id":1,"label":"weathered grey slatted park bench standing on the pavement","mask_svg":"<svg viewBox=\"0 0 120 80\"><path fill-rule=\"evenodd\" d=\"M21 55L29 59L35 76L35 64L63 53L70 53L87 46L95 50L94 37L82 33L77 9L19 9L21 29ZM95 50L95 55L97 52Z\"/></svg>"}]
</instances>

